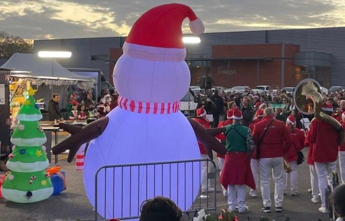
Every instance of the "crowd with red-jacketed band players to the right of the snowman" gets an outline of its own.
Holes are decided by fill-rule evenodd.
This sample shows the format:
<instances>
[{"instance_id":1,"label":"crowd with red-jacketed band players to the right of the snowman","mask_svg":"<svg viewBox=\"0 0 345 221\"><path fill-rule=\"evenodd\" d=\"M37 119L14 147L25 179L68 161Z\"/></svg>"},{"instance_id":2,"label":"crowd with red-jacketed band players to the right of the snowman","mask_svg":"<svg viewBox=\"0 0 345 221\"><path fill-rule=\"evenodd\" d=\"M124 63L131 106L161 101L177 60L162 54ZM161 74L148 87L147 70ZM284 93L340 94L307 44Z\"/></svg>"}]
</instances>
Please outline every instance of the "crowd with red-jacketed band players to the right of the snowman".
<instances>
[{"instance_id":1,"label":"crowd with red-jacketed band players to the right of the snowman","mask_svg":"<svg viewBox=\"0 0 345 221\"><path fill-rule=\"evenodd\" d=\"M254 94L250 88L242 94L209 92L202 90L194 95L198 103L195 120L207 128L225 127L217 138L225 144L227 154L217 157L229 210L249 212L245 205L245 185L251 188L251 197L258 196L260 186L261 211L270 213L272 174L276 185L274 205L276 212L281 212L284 194L288 193L287 179L291 183L289 194L299 194L298 165L304 161L301 150L309 147L311 189L308 192L312 195L311 202L321 203L319 211L328 213L325 190L331 184L332 171L337 170L338 159L340 177L345 181L345 145L339 142L343 131L313 116L310 125L304 125L301 119L307 115L299 113L292 95L284 90L276 94L272 91ZM345 94L342 91L323 94L323 102L322 112L345 127ZM213 122L207 114L212 115ZM199 143L199 147L203 158L207 158L203 144ZM202 173L207 173L207 168L203 167ZM203 175L202 191L206 184Z\"/></svg>"}]
</instances>

